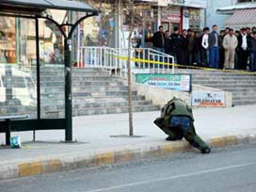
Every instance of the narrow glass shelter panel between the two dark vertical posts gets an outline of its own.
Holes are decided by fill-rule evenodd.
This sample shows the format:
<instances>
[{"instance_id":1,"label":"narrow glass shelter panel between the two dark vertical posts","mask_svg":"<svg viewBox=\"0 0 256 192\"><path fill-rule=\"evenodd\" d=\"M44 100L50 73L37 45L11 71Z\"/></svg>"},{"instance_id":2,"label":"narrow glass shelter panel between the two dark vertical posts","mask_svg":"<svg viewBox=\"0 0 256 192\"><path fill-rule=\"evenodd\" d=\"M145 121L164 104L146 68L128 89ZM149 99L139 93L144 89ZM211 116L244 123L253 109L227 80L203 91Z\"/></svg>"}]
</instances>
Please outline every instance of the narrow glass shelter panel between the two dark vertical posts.
<instances>
[{"instance_id":1,"label":"narrow glass shelter panel between the two dark vertical posts","mask_svg":"<svg viewBox=\"0 0 256 192\"><path fill-rule=\"evenodd\" d=\"M64 38L51 21L40 19L40 117L65 118Z\"/></svg>"}]
</instances>

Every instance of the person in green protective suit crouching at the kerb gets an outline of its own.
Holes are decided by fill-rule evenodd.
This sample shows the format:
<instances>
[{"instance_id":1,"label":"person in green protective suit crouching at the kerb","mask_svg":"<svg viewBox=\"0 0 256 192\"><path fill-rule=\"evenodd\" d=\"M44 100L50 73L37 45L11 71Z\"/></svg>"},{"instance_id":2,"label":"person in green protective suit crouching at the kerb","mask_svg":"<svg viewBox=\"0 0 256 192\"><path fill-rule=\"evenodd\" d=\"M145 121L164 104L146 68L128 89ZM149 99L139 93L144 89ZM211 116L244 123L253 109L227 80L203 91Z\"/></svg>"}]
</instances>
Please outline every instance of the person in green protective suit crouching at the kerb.
<instances>
[{"instance_id":1,"label":"person in green protective suit crouching at the kerb","mask_svg":"<svg viewBox=\"0 0 256 192\"><path fill-rule=\"evenodd\" d=\"M183 137L201 153L211 149L196 134L192 109L183 100L173 98L161 110L161 117L153 121L168 137L166 140L182 140Z\"/></svg>"}]
</instances>

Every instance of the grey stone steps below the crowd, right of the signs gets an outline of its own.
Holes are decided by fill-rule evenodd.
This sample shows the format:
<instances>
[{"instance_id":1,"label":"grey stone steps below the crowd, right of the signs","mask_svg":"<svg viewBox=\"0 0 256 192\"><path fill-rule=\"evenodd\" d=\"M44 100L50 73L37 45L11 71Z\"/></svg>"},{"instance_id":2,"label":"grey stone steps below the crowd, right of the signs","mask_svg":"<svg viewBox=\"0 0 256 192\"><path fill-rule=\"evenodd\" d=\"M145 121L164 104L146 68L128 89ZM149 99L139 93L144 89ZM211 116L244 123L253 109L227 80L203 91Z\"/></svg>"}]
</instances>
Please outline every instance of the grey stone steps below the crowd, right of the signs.
<instances>
[{"instance_id":1,"label":"grey stone steps below the crowd, right of the signs","mask_svg":"<svg viewBox=\"0 0 256 192\"><path fill-rule=\"evenodd\" d=\"M176 70L192 74L192 83L232 92L232 104L256 104L256 75L249 73Z\"/></svg>"}]
</instances>

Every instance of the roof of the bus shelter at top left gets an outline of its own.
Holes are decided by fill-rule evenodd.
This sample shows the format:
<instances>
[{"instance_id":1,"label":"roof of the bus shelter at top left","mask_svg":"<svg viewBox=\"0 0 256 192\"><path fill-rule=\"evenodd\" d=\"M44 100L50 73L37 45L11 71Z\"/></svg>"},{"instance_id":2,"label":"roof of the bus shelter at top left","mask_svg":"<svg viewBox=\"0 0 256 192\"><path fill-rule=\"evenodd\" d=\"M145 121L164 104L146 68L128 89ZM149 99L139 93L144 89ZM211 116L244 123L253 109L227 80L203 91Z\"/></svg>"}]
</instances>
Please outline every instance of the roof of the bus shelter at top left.
<instances>
[{"instance_id":1,"label":"roof of the bus shelter at top left","mask_svg":"<svg viewBox=\"0 0 256 192\"><path fill-rule=\"evenodd\" d=\"M40 15L47 9L75 10L83 12L97 13L96 8L88 6L88 4L67 1L67 0L1 0L0 12L8 12L14 14Z\"/></svg>"}]
</instances>

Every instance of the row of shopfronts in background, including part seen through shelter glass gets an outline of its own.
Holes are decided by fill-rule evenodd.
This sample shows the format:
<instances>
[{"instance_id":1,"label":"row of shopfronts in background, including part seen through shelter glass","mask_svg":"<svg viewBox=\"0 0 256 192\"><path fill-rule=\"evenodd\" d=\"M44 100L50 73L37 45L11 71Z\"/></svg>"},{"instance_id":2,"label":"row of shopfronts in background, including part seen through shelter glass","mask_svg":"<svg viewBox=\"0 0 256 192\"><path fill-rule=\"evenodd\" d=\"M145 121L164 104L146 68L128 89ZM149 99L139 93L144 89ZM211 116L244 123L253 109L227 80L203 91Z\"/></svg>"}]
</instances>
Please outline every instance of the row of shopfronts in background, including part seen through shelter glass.
<instances>
[{"instance_id":1,"label":"row of shopfronts in background, including part seen through shelter glass","mask_svg":"<svg viewBox=\"0 0 256 192\"><path fill-rule=\"evenodd\" d=\"M88 46L128 47L128 0L79 0L100 8L102 13L80 24L74 35L73 47ZM135 47L151 47L151 38L160 24L165 30L200 30L205 25L206 0L135 0ZM51 10L49 13L61 23L75 14ZM70 17L70 18L69 18ZM40 61L45 64L63 63L63 40L55 24L40 21ZM25 47L25 49L24 49ZM0 63L31 66L36 63L34 21L0 17ZM23 49L22 49L23 48ZM73 51L75 60L75 48Z\"/></svg>"}]
</instances>

